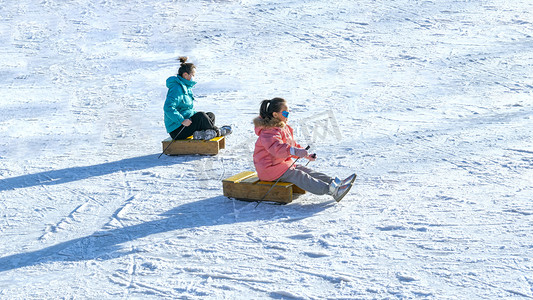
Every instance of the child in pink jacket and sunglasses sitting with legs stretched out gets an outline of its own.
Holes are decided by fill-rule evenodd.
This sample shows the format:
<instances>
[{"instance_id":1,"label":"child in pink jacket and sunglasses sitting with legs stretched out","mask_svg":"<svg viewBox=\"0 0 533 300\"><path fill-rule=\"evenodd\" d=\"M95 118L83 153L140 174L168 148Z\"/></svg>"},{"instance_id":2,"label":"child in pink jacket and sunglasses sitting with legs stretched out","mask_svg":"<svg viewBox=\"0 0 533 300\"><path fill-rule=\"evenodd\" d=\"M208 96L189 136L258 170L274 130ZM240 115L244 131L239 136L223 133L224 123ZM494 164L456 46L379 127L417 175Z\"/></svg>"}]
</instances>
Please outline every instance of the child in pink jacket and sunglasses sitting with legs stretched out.
<instances>
[{"instance_id":1,"label":"child in pink jacket and sunglasses sitting with legs stretched out","mask_svg":"<svg viewBox=\"0 0 533 300\"><path fill-rule=\"evenodd\" d=\"M314 156L300 146L287 124L289 107L283 98L261 102L259 117L254 119L258 135L254 150L254 165L259 179L291 182L317 195L332 195L340 201L350 190L355 174L345 180L332 178L302 165L293 164L293 158L314 161ZM292 165L292 167L291 167Z\"/></svg>"}]
</instances>

